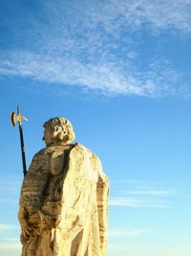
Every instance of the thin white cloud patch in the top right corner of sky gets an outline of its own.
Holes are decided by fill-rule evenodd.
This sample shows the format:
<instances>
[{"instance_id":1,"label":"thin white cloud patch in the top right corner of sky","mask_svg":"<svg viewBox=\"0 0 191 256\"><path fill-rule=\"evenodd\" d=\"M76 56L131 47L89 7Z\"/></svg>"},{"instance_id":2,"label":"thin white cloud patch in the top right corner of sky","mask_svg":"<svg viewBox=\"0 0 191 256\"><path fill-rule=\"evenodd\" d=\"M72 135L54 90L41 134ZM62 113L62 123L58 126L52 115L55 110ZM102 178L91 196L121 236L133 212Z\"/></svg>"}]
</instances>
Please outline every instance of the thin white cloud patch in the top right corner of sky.
<instances>
[{"instance_id":1,"label":"thin white cloud patch in the top right corner of sky","mask_svg":"<svg viewBox=\"0 0 191 256\"><path fill-rule=\"evenodd\" d=\"M139 27L143 24L153 29L175 28L183 32L191 32L191 1L112 1L116 5L116 13L123 16L128 25Z\"/></svg>"}]
</instances>

